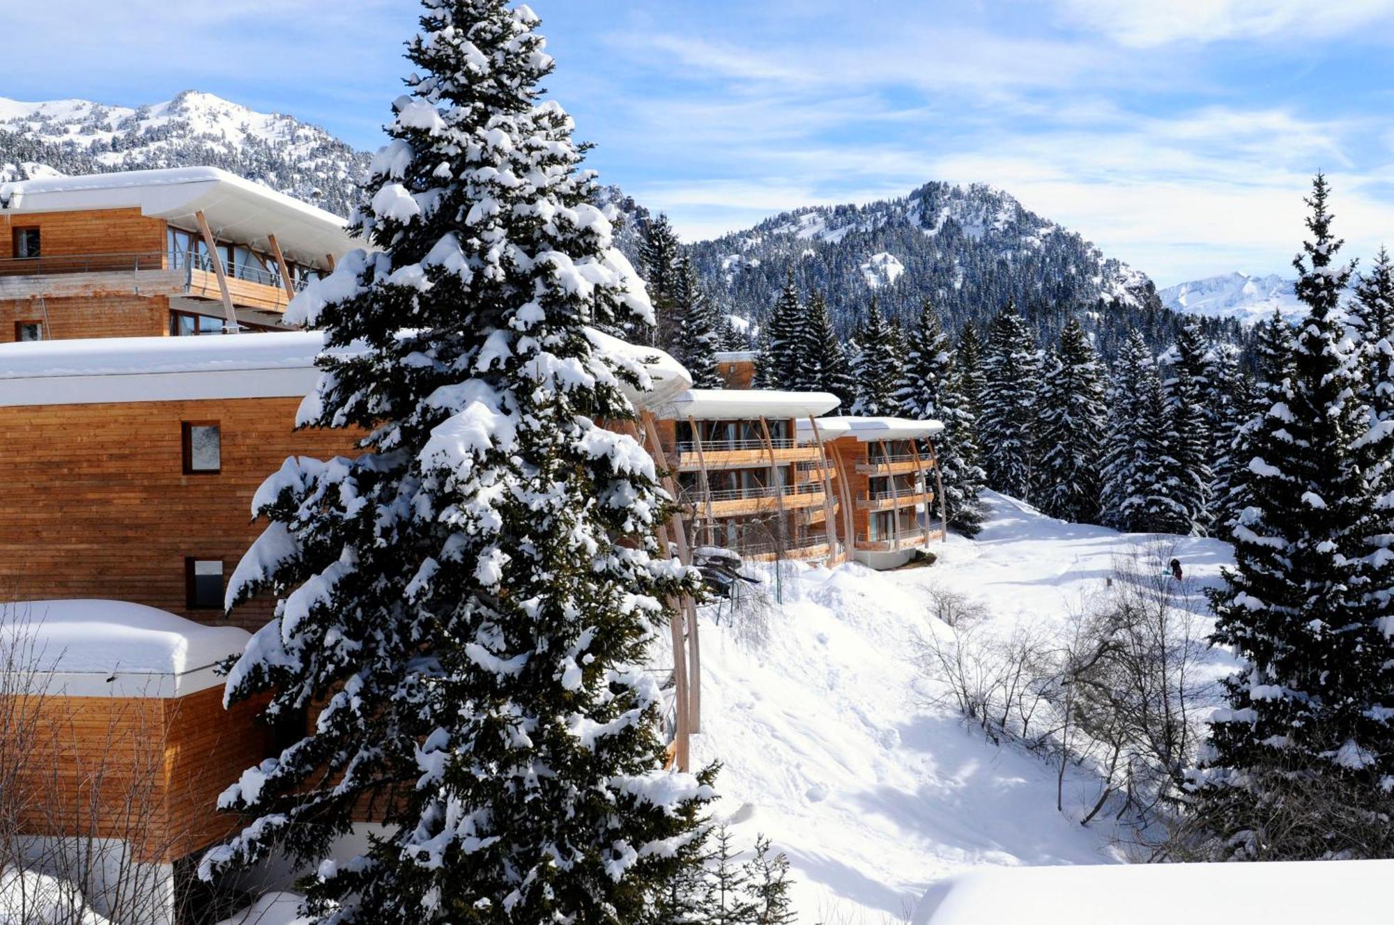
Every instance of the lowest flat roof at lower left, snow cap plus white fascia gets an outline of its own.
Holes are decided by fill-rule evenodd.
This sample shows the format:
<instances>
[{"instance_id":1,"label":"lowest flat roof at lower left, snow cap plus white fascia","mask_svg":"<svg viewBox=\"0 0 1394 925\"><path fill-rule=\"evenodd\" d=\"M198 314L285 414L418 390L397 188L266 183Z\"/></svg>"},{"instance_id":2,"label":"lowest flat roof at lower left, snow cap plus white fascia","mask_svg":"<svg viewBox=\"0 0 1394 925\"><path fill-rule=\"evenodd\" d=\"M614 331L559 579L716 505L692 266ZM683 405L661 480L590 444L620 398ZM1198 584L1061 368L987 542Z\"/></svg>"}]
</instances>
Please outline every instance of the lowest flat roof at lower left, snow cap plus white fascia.
<instances>
[{"instance_id":1,"label":"lowest flat roof at lower left, snow cap plus white fascia","mask_svg":"<svg viewBox=\"0 0 1394 925\"><path fill-rule=\"evenodd\" d=\"M237 627L208 627L124 600L7 605L0 646L71 697L181 697L222 684L213 666L245 648Z\"/></svg>"}]
</instances>

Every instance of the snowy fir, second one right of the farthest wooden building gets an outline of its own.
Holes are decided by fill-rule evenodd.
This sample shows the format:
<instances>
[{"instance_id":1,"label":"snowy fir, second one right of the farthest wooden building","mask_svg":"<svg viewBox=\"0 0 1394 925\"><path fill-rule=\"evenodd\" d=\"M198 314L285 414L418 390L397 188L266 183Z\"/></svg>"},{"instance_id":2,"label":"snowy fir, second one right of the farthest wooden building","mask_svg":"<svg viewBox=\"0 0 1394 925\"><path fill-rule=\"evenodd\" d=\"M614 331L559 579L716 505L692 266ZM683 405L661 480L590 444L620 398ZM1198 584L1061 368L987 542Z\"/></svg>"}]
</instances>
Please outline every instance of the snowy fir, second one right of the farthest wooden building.
<instances>
[{"instance_id":1,"label":"snowy fir, second one right of the farthest wooden building","mask_svg":"<svg viewBox=\"0 0 1394 925\"><path fill-rule=\"evenodd\" d=\"M993 319L983 351L977 439L987 485L1032 499L1036 472L1036 394L1041 358L1026 320L1008 305Z\"/></svg>"}]
</instances>

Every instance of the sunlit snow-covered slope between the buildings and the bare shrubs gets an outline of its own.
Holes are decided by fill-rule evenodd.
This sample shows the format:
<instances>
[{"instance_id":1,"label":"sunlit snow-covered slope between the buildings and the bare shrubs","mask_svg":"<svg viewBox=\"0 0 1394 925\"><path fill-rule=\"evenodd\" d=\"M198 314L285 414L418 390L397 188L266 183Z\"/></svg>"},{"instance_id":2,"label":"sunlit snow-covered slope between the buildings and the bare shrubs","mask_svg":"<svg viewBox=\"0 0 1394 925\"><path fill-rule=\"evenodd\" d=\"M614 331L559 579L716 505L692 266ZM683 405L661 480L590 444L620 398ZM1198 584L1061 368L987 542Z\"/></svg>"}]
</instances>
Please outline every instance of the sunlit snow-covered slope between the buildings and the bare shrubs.
<instances>
[{"instance_id":1,"label":"sunlit snow-covered slope between the buildings and the bare shrubs","mask_svg":"<svg viewBox=\"0 0 1394 925\"><path fill-rule=\"evenodd\" d=\"M931 586L970 595L997 620L1055 620L1151 538L1064 524L1001 496L988 504L983 534L951 538L927 568L790 570L764 644L707 614L694 759L723 763L718 818L742 841L764 833L788 854L803 922L902 921L930 885L979 865L1121 860L1076 822L1094 782L1071 779L1057 814L1051 769L924 705L907 642ZM1167 542L1203 610L1199 591L1230 546Z\"/></svg>"}]
</instances>

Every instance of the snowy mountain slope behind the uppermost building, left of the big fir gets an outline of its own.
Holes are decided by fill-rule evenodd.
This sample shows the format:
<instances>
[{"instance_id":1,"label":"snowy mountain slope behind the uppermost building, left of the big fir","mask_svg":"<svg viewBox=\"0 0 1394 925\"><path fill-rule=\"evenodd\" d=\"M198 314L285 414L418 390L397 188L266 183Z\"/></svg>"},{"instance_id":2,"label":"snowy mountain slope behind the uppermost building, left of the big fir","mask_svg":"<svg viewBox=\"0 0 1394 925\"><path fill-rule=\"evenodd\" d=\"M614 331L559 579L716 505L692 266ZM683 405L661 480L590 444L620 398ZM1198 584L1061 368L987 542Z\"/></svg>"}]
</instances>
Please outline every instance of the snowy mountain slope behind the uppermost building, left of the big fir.
<instances>
[{"instance_id":1,"label":"snowy mountain slope behind the uppermost building, left of the big fir","mask_svg":"<svg viewBox=\"0 0 1394 925\"><path fill-rule=\"evenodd\" d=\"M347 215L367 155L291 116L197 91L134 109L0 98L0 171L11 178L187 166L223 167Z\"/></svg>"}]
</instances>

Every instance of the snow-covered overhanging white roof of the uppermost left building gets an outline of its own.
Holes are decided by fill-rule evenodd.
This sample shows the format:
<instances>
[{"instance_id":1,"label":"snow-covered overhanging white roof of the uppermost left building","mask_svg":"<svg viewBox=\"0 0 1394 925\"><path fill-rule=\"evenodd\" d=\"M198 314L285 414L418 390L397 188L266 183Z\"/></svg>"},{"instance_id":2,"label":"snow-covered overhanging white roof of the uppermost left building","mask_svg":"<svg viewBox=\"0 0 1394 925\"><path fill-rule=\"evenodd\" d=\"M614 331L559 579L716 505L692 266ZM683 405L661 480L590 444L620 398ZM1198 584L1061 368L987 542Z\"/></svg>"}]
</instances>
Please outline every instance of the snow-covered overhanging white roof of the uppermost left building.
<instances>
[{"instance_id":1,"label":"snow-covered overhanging white roof of the uppermost left building","mask_svg":"<svg viewBox=\"0 0 1394 925\"><path fill-rule=\"evenodd\" d=\"M287 259L325 265L358 247L339 216L217 167L128 170L0 184L0 215L139 209L141 215L197 228L202 212L226 241L269 247L275 234Z\"/></svg>"}]
</instances>

